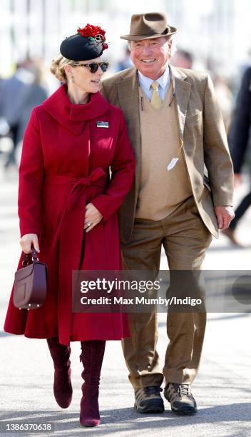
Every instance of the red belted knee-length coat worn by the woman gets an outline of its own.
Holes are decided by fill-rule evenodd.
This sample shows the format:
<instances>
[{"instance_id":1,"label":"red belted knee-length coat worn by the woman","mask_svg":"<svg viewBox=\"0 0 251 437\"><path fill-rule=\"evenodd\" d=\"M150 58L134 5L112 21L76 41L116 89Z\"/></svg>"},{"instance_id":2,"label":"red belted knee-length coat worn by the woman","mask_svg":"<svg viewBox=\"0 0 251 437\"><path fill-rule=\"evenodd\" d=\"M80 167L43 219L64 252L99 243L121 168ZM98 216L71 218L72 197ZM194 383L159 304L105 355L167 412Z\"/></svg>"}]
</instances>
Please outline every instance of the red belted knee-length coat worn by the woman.
<instances>
[{"instance_id":1,"label":"red belted knee-length coat worn by the woman","mask_svg":"<svg viewBox=\"0 0 251 437\"><path fill-rule=\"evenodd\" d=\"M108 128L98 121L108 122ZM12 291L4 331L30 338L59 336L63 344L130 335L125 314L72 313L71 276L78 268L121 268L116 211L133 184L134 169L122 111L101 94L93 94L86 105L71 104L62 85L36 106L24 136L19 218L21 236L39 235L48 294L41 308L28 311L14 307ZM103 220L85 233L88 202Z\"/></svg>"}]
</instances>

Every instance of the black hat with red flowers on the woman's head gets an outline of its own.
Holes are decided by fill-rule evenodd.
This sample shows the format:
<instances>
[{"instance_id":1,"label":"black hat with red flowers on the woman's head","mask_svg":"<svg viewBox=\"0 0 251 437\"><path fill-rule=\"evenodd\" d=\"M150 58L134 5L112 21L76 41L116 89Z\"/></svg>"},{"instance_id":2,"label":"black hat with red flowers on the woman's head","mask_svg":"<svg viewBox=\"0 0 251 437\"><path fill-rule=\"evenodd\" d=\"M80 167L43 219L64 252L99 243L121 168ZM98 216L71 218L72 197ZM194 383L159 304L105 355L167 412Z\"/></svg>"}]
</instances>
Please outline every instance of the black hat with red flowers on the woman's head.
<instances>
[{"instance_id":1,"label":"black hat with red flowers on the woman's head","mask_svg":"<svg viewBox=\"0 0 251 437\"><path fill-rule=\"evenodd\" d=\"M99 26L87 24L83 29L78 28L78 33L68 36L60 46L60 53L71 61L87 61L95 59L108 49L106 44L106 31Z\"/></svg>"}]
</instances>

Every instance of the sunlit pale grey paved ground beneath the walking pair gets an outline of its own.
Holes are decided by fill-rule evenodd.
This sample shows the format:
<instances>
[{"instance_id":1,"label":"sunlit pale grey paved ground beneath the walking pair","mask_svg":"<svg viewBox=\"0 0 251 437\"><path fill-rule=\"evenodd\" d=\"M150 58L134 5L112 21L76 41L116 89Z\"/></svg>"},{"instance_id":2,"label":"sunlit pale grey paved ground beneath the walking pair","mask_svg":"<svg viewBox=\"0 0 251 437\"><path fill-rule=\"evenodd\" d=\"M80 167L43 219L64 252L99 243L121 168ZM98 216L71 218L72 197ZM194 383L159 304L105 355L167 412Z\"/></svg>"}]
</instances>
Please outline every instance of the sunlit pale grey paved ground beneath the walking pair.
<instances>
[{"instance_id":1,"label":"sunlit pale grey paved ground beneath the walking pair","mask_svg":"<svg viewBox=\"0 0 251 437\"><path fill-rule=\"evenodd\" d=\"M245 186L242 191L245 190ZM238 196L242 194L239 191ZM45 341L11 336L2 324L19 258L19 230L16 218L16 175L0 172L0 420L8 423L54 423L56 436L251 436L251 351L250 313L210 313L200 373L193 385L199 412L193 417L177 417L165 404L164 414L139 415L133 411L133 391L127 378L119 342L108 342L101 381L101 421L98 428L78 424L81 398L80 346L73 343L72 368L74 397L67 411L53 400L53 368ZM245 216L238 236L245 249L232 249L222 237L213 241L205 268L250 269L251 214ZM162 258L165 268L165 257ZM158 351L162 362L167 344L165 314L159 316ZM1 425L1 422L0 422ZM2 424L3 425L3 424ZM8 432L11 436L19 433ZM0 431L0 436L5 436ZM26 435L29 435L26 432ZM39 435L50 435L39 433Z\"/></svg>"}]
</instances>

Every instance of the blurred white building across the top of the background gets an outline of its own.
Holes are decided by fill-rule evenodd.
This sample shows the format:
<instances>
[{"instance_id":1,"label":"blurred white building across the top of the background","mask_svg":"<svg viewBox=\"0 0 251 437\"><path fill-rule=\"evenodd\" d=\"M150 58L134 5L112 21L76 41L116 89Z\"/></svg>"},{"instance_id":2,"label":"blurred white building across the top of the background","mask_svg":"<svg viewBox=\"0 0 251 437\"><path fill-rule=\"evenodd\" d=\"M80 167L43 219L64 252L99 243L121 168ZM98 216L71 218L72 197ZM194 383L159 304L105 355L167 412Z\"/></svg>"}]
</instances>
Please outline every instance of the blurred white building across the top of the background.
<instances>
[{"instance_id":1,"label":"blurred white building across the top of the background","mask_svg":"<svg viewBox=\"0 0 251 437\"><path fill-rule=\"evenodd\" d=\"M165 11L178 28L176 46L191 51L198 64L210 60L225 76L237 73L251 47L250 0L1 0L0 74L11 73L26 55L49 63L63 37L87 22L107 31L112 65L121 57L130 16Z\"/></svg>"}]
</instances>

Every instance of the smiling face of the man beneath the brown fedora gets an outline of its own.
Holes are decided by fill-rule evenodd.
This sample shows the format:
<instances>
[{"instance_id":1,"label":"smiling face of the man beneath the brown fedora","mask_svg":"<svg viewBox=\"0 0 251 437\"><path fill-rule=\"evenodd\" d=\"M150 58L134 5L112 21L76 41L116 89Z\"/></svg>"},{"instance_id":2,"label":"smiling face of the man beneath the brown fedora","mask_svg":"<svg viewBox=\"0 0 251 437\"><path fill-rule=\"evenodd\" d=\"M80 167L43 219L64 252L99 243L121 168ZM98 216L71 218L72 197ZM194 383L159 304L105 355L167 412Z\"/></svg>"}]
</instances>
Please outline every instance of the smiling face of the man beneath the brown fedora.
<instances>
[{"instance_id":1,"label":"smiling face of the man beneath the brown fedora","mask_svg":"<svg viewBox=\"0 0 251 437\"><path fill-rule=\"evenodd\" d=\"M140 73L155 81L168 66L171 46L172 41L167 41L165 36L131 41L130 59Z\"/></svg>"}]
</instances>

